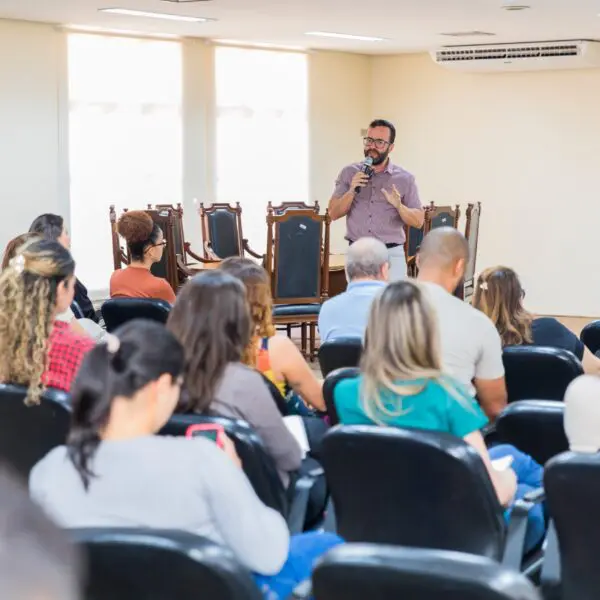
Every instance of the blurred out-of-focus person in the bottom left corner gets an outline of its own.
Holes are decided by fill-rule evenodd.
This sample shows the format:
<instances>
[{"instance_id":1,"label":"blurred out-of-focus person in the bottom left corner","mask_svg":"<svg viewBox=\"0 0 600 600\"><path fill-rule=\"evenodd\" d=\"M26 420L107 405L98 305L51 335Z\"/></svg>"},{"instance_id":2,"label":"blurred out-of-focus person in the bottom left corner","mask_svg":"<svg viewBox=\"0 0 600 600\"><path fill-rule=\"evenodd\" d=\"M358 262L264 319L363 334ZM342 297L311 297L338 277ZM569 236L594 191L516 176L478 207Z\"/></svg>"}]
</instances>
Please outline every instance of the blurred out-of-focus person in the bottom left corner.
<instances>
[{"instance_id":1,"label":"blurred out-of-focus person in the bottom left corner","mask_svg":"<svg viewBox=\"0 0 600 600\"><path fill-rule=\"evenodd\" d=\"M77 600L79 557L21 482L0 469L0 598Z\"/></svg>"}]
</instances>

